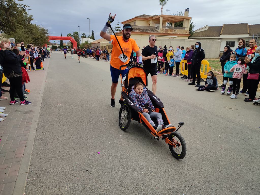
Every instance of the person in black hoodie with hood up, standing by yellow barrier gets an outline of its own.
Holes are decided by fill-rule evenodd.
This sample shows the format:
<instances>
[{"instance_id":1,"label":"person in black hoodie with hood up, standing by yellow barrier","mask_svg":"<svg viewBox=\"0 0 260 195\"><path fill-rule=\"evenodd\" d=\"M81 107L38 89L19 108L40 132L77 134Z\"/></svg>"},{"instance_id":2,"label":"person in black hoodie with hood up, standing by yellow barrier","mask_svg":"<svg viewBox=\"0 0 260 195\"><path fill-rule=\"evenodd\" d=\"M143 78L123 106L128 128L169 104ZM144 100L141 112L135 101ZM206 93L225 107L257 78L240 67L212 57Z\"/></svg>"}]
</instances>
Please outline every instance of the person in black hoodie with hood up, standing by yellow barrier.
<instances>
[{"instance_id":1,"label":"person in black hoodie with hood up, standing by yellow barrier","mask_svg":"<svg viewBox=\"0 0 260 195\"><path fill-rule=\"evenodd\" d=\"M192 82L188 83L188 85L196 85L196 75L197 75L197 85L195 87L200 86L200 66L201 61L205 58L204 49L201 48L200 42L196 42L196 49L193 52L191 63L192 63Z\"/></svg>"}]
</instances>

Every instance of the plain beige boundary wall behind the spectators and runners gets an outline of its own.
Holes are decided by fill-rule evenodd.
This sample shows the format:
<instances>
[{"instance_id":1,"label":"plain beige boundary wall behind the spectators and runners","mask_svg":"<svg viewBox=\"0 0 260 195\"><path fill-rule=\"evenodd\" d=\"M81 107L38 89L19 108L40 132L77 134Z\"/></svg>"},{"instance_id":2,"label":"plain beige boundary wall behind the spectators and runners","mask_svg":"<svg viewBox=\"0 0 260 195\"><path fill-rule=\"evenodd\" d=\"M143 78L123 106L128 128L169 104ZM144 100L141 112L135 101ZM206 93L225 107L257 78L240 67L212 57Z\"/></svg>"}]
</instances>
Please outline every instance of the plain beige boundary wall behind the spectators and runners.
<instances>
[{"instance_id":1,"label":"plain beige boundary wall behind the spectators and runners","mask_svg":"<svg viewBox=\"0 0 260 195\"><path fill-rule=\"evenodd\" d=\"M132 38L132 36L131 36ZM147 38L142 38L142 39L136 39L135 40L138 46L142 48L142 46L147 46L148 43L148 37ZM164 47L166 45L167 48L172 46L173 48L176 48L178 45L179 46L184 46L186 48L187 46L190 45L195 45L197 41L201 42L202 48L205 50L205 58L217 58L219 57L219 50L220 50L220 43L221 41L213 41L213 40L194 40L194 39L172 39L168 38L158 38L157 37L157 42L156 46L161 45Z\"/></svg>"}]
</instances>

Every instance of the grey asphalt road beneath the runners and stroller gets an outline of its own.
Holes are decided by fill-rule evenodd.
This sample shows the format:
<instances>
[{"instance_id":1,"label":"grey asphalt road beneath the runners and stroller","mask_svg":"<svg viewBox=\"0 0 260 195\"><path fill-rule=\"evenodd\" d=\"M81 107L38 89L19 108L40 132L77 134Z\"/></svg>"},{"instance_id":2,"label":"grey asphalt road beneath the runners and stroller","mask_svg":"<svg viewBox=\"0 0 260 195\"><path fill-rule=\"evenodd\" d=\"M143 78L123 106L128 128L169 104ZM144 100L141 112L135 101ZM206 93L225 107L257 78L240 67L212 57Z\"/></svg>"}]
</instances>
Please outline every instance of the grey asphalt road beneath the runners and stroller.
<instances>
[{"instance_id":1,"label":"grey asphalt road beneath the runners and stroller","mask_svg":"<svg viewBox=\"0 0 260 195\"><path fill-rule=\"evenodd\" d=\"M171 123L185 124L187 154L176 160L138 122L119 128L121 88L111 108L109 62L55 52L46 81L26 195L260 194L260 106L244 95L198 92L159 75Z\"/></svg>"}]
</instances>

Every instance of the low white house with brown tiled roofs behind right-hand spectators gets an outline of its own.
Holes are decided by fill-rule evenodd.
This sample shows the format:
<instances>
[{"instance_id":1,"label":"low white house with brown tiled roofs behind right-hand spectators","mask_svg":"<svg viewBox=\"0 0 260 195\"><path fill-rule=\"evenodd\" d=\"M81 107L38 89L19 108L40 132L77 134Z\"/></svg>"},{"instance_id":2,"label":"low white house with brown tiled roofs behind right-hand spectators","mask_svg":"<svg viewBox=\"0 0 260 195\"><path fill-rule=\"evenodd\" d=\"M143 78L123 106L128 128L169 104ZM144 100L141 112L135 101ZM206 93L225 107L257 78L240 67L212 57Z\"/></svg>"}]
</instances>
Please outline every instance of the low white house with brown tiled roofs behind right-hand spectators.
<instances>
[{"instance_id":1,"label":"low white house with brown tiled roofs behind right-hand spectators","mask_svg":"<svg viewBox=\"0 0 260 195\"><path fill-rule=\"evenodd\" d=\"M190 36L190 39L199 40L219 40L220 55L222 55L224 47L229 45L231 49L235 50L240 39L246 41L246 47L251 38L258 38L260 40L260 24L223 24L223 26L209 27L208 25L195 30L195 33ZM259 46L259 43L258 43Z\"/></svg>"}]
</instances>

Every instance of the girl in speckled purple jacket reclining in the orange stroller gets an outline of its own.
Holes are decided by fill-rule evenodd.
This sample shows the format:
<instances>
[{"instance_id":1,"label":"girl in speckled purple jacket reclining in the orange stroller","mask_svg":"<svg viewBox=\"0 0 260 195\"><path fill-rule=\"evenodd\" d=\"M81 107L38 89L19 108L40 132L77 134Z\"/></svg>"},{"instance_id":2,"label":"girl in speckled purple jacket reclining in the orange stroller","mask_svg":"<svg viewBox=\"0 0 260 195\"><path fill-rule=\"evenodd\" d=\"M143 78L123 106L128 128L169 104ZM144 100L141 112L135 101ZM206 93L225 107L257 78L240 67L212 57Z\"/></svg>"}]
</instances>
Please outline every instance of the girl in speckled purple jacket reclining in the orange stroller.
<instances>
[{"instance_id":1,"label":"girl in speckled purple jacket reclining in the orange stroller","mask_svg":"<svg viewBox=\"0 0 260 195\"><path fill-rule=\"evenodd\" d=\"M162 128L172 127L171 124L164 125L161 113L155 112L152 101L148 96L147 89L142 83L135 83L131 90L132 91L129 93L130 99L134 102L135 106L139 108L142 115L144 115L147 121L157 132L161 131ZM157 120L158 126L155 126L152 119Z\"/></svg>"}]
</instances>

